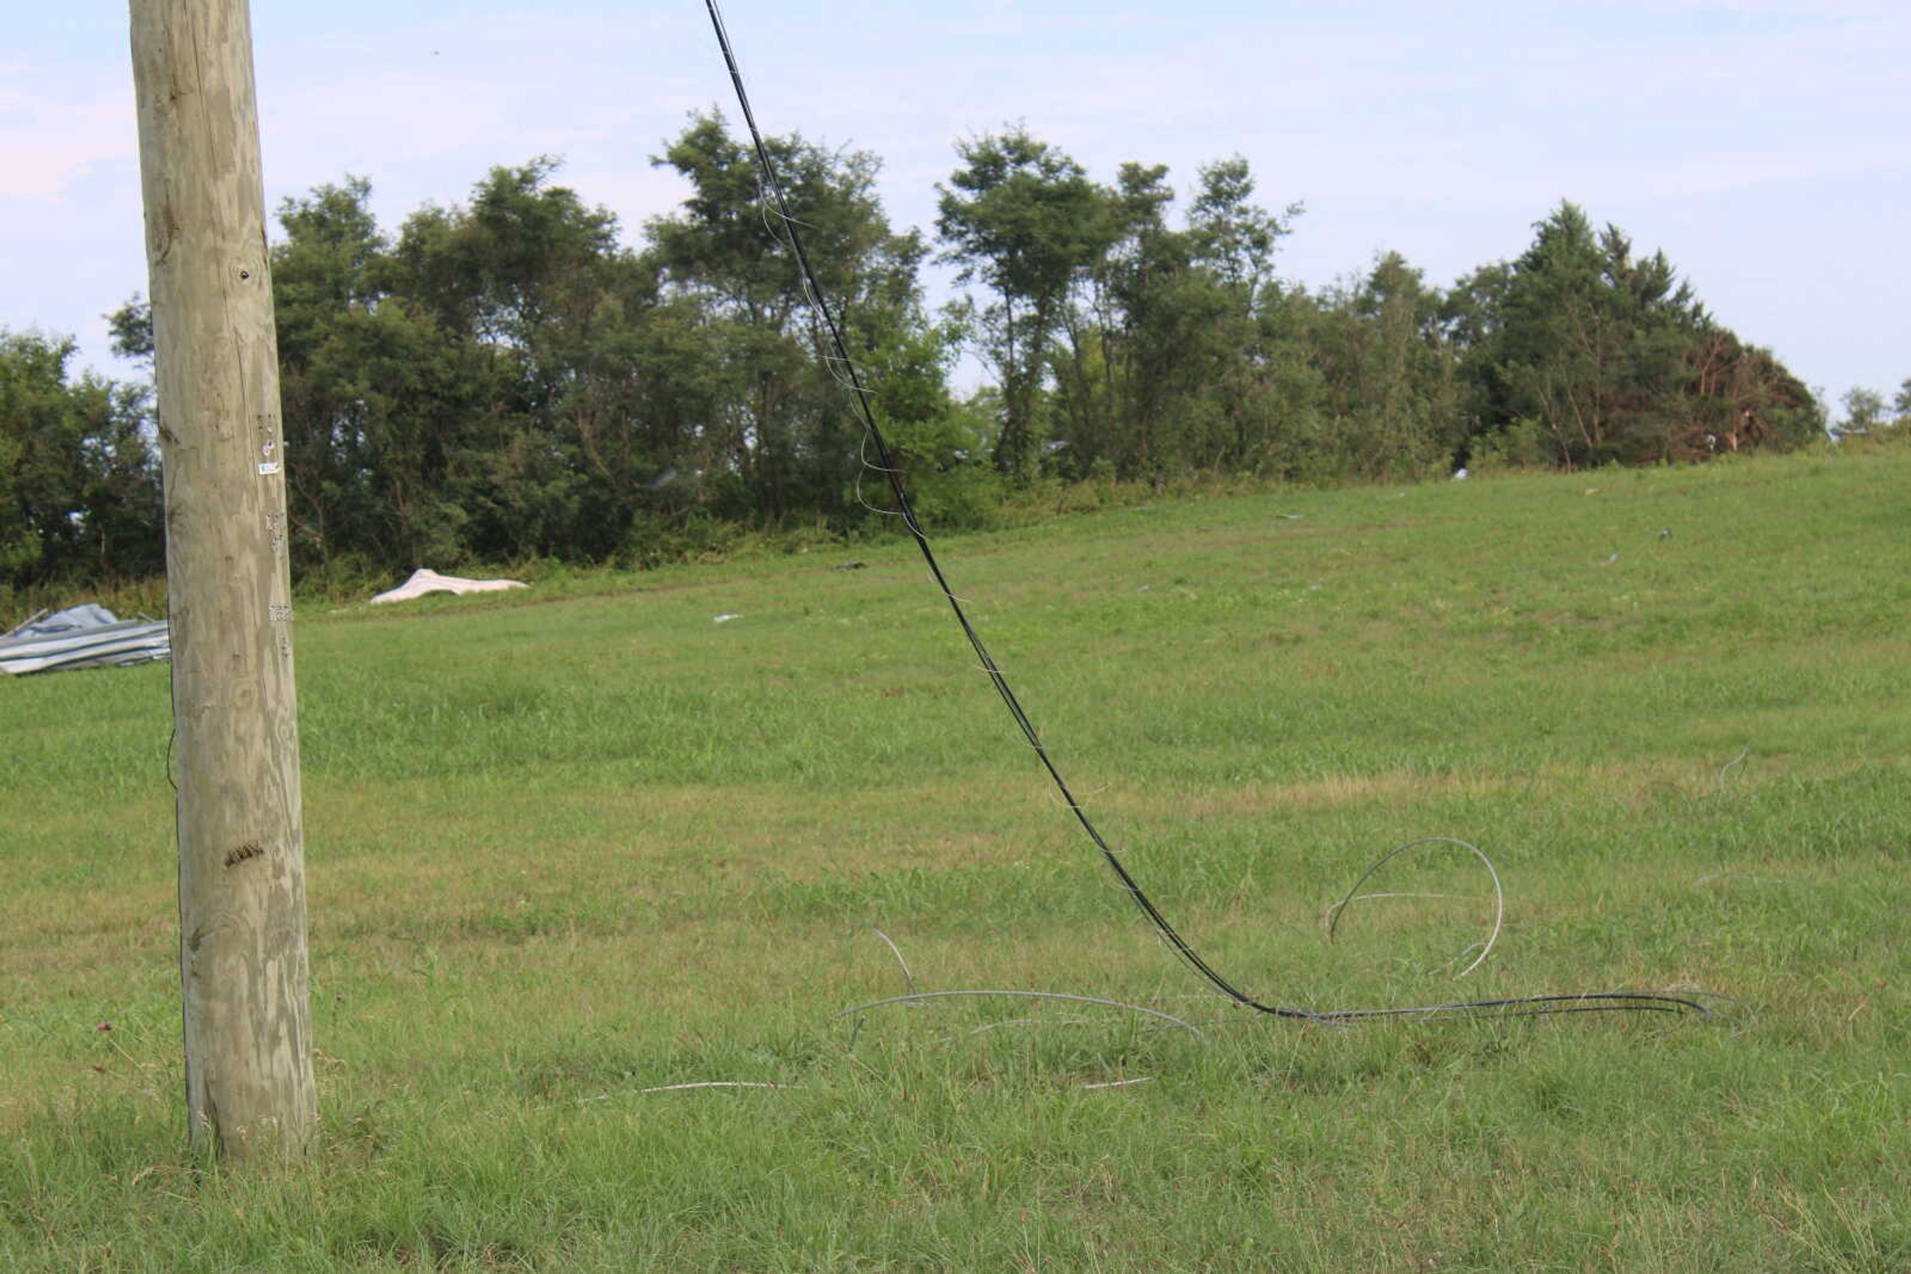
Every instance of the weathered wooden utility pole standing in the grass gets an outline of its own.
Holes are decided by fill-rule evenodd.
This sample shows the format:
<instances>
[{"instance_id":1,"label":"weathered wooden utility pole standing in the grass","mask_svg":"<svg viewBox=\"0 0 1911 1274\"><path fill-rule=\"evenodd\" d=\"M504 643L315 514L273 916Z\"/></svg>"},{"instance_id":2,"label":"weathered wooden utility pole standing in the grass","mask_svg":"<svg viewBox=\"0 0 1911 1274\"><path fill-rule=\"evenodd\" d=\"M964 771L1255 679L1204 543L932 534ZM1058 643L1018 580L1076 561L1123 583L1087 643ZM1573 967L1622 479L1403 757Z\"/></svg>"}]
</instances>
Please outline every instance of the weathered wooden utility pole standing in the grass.
<instances>
[{"instance_id":1,"label":"weathered wooden utility pole standing in the grass","mask_svg":"<svg viewBox=\"0 0 1911 1274\"><path fill-rule=\"evenodd\" d=\"M199 1150L317 1127L279 344L247 0L132 0Z\"/></svg>"}]
</instances>

